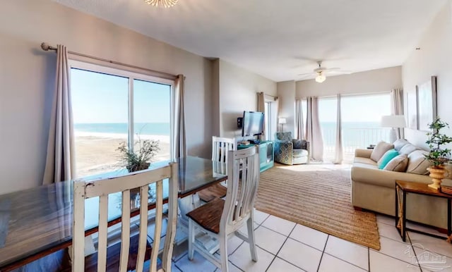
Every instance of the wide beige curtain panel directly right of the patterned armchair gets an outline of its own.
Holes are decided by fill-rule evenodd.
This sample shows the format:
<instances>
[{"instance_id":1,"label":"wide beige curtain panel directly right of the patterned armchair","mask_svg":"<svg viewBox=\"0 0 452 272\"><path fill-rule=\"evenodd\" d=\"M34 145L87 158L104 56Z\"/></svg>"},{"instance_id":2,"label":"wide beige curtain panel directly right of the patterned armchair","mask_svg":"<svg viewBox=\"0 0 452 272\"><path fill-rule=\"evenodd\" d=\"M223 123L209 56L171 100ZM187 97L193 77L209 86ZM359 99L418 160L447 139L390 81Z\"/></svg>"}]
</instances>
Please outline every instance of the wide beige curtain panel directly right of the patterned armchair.
<instances>
[{"instance_id":1,"label":"wide beige curtain panel directly right of the patterned armchair","mask_svg":"<svg viewBox=\"0 0 452 272\"><path fill-rule=\"evenodd\" d=\"M307 98L307 141L311 144L311 159L323 161L323 140L319 121L317 97Z\"/></svg>"}]
</instances>

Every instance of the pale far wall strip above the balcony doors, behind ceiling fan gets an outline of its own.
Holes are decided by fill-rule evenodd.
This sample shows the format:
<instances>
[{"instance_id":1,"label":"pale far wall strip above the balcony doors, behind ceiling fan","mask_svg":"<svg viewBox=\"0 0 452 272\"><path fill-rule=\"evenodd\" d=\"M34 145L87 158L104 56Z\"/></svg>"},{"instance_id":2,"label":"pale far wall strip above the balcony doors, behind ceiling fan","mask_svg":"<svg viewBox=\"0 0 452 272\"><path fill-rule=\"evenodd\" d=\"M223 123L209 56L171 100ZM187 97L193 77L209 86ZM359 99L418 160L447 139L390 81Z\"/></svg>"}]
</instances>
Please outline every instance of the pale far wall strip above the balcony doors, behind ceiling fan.
<instances>
[{"instance_id":1,"label":"pale far wall strip above the balcony doors, behind ceiling fan","mask_svg":"<svg viewBox=\"0 0 452 272\"><path fill-rule=\"evenodd\" d=\"M326 97L335 94L364 94L390 92L402 87L401 66L352 73L350 75L328 76L322 83L315 80L297 81L295 97Z\"/></svg>"}]
</instances>

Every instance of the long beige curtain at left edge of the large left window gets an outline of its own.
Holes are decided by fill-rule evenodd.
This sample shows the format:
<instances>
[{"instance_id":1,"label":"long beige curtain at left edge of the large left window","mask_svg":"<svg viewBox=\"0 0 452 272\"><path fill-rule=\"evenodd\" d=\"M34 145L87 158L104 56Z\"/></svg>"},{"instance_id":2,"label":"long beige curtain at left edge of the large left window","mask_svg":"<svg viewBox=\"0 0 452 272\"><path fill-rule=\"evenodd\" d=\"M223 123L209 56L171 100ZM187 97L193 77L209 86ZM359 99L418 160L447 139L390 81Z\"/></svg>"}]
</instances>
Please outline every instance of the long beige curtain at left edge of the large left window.
<instances>
[{"instance_id":1,"label":"long beige curtain at left edge of the large left window","mask_svg":"<svg viewBox=\"0 0 452 272\"><path fill-rule=\"evenodd\" d=\"M50 117L47 159L42 184L75 178L73 120L71 106L71 69L66 47L57 46L57 75Z\"/></svg>"}]
</instances>

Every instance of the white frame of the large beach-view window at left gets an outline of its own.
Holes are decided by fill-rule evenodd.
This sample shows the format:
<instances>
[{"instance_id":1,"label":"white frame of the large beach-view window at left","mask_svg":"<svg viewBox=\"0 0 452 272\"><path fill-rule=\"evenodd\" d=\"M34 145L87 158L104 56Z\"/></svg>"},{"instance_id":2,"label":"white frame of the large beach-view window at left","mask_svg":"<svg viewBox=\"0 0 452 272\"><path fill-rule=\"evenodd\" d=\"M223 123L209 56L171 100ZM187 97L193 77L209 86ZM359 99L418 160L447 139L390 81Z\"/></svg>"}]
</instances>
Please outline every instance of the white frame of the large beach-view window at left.
<instances>
[{"instance_id":1,"label":"white frame of the large beach-view window at left","mask_svg":"<svg viewBox=\"0 0 452 272\"><path fill-rule=\"evenodd\" d=\"M129 101L128 101L128 113L129 116L127 118L128 125L129 125L129 131L128 131L128 144L129 149L133 150L133 144L134 144L134 133L133 133L133 81L134 80L143 80L146 82L153 82L156 84L162 84L162 85L169 85L170 87L170 94L169 94L169 159L171 161L174 160L173 158L173 149L174 149L174 109L176 105L175 101L175 91L174 91L174 80L169 80L166 78L159 78L155 75L150 75L146 73L145 70L143 70L143 73L137 73L135 71L128 70L126 66L124 66L124 69L115 67L109 67L104 66L98 63L88 63L85 61L78 61L75 59L69 59L69 69L81 69L81 70L87 70L93 73L103 73L105 75L113 75L118 76L121 78L128 78L129 79Z\"/></svg>"}]
</instances>

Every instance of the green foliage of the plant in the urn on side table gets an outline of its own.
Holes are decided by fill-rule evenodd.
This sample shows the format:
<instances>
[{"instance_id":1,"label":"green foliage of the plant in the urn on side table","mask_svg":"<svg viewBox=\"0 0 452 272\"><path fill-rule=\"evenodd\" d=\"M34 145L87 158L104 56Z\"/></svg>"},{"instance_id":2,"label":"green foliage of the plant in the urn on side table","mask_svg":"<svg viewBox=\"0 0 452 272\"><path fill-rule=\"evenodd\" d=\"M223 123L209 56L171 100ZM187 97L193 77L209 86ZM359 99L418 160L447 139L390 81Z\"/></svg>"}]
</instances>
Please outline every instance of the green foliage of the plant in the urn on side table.
<instances>
[{"instance_id":1,"label":"green foliage of the plant in the urn on side table","mask_svg":"<svg viewBox=\"0 0 452 272\"><path fill-rule=\"evenodd\" d=\"M426 143L429 144L430 152L424 157L432 162L434 167L438 167L446 163L451 156L451 149L441 148L441 146L452 142L452 137L440 133L441 129L449 128L449 125L439 117L429 124L429 128L432 132L427 132L429 138Z\"/></svg>"}]
</instances>

